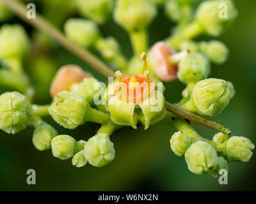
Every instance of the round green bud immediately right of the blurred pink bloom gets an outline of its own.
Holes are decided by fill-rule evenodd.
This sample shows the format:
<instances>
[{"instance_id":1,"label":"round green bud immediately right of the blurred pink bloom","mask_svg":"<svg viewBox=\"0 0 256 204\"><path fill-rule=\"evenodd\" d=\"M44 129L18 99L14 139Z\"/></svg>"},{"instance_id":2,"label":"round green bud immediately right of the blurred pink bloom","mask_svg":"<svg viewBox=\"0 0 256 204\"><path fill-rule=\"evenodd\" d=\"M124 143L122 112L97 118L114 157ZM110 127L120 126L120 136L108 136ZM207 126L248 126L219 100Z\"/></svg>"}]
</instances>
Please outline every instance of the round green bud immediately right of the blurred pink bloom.
<instances>
[{"instance_id":1,"label":"round green bud immediately right of the blurred pink bloom","mask_svg":"<svg viewBox=\"0 0 256 204\"><path fill-rule=\"evenodd\" d=\"M178 78L184 84L203 80L208 77L209 73L209 61L202 54L189 54L179 62Z\"/></svg>"}]
</instances>

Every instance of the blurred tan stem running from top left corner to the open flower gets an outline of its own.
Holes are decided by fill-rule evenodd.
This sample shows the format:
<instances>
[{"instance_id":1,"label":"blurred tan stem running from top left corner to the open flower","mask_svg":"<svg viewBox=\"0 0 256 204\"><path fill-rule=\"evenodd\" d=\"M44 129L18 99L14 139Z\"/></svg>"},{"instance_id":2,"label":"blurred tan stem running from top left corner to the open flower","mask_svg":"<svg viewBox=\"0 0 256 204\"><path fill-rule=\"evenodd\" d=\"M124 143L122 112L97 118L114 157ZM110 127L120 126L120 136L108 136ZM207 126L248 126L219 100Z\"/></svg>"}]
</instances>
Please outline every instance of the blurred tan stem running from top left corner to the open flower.
<instances>
[{"instance_id":1,"label":"blurred tan stem running from top left corner to the open flower","mask_svg":"<svg viewBox=\"0 0 256 204\"><path fill-rule=\"evenodd\" d=\"M67 50L69 50L73 54L77 55L77 57L83 59L84 62L90 64L90 66L99 71L99 73L102 73L102 75L104 75L105 77L112 77L114 75L113 71L101 61L99 61L97 57L90 54L90 52L88 52L87 50L84 50L84 48L79 47L71 41L67 40L67 38L65 38L65 36L56 27L49 24L49 22L47 22L47 20L38 15L38 13L36 13L35 19L27 18L28 10L24 6L24 4L13 0L0 0L0 2L4 6L12 10L14 13L16 13L24 21L28 22L28 24L33 25L33 27L36 27L48 36L51 36L52 39L56 40L58 43L60 43L60 45L67 48Z\"/></svg>"}]
</instances>

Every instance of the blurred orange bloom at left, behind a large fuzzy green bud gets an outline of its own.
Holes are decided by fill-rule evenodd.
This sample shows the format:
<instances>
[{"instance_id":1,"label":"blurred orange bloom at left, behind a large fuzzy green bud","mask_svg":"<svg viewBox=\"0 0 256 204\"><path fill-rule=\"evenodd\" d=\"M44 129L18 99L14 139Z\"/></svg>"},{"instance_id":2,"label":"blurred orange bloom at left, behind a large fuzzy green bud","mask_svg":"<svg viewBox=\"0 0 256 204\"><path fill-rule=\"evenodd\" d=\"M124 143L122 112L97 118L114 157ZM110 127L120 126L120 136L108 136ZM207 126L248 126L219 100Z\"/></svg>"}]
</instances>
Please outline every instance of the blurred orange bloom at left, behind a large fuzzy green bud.
<instances>
[{"instance_id":1,"label":"blurred orange bloom at left, behind a large fuzzy green bud","mask_svg":"<svg viewBox=\"0 0 256 204\"><path fill-rule=\"evenodd\" d=\"M50 92L52 98L58 92L71 91L72 85L82 82L84 78L88 77L92 77L92 75L77 65L68 64L62 66L56 73L56 77L51 84Z\"/></svg>"}]
</instances>

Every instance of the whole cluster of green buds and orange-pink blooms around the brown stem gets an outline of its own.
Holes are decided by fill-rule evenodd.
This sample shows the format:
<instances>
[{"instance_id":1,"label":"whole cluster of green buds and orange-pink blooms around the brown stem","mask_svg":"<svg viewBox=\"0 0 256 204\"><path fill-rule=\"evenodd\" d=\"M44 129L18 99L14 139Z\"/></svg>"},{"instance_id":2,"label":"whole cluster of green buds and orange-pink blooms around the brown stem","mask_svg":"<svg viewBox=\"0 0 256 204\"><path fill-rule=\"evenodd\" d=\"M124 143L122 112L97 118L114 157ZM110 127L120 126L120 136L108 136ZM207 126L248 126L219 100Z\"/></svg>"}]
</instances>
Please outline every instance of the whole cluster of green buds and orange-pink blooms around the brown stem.
<instances>
[{"instance_id":1,"label":"whole cluster of green buds and orange-pink blooms around the brown stem","mask_svg":"<svg viewBox=\"0 0 256 204\"><path fill-rule=\"evenodd\" d=\"M220 4L225 4L227 11L221 13ZM56 1L54 6L61 4ZM148 27L157 15L157 6L164 7L177 27L171 36L149 47ZM221 41L196 41L195 38L200 34L216 37L227 29L237 16L231 0L118 0L116 3L113 0L76 0L70 3L67 13L74 11L81 17L68 18L65 22L66 38L80 48L99 52L111 68L120 70L112 76L115 80L102 91L100 82L91 73L75 64L67 64L58 69L51 82L52 103L31 105L35 93L22 69L22 60L29 50L28 36L21 25L2 25L0 59L6 66L0 69L0 85L8 85L19 92L0 96L0 129L14 134L30 124L35 127L32 141L36 149L51 149L54 157L71 159L76 167L86 163L102 167L115 158L110 136L116 129L124 126L136 129L138 124L148 129L166 120L177 129L170 138L172 151L185 157L193 173L209 172L218 177L221 169L228 170L230 161L250 160L254 145L248 138L228 138L230 133L226 131L207 140L198 135L188 120L182 119L182 113L177 116L167 112L161 83L179 80L186 85L177 106L198 117L219 115L230 103L235 94L232 83L209 78L211 63L227 61L228 48ZM220 17L225 12L228 17ZM54 12L46 13L51 13L49 19L54 17ZM100 25L111 14L116 24L130 36L134 50L131 59L122 54L113 36L105 37L100 33ZM0 4L0 21L9 15ZM38 46L31 49L40 49L42 45L51 49L42 34L35 39ZM148 59L145 52L148 52ZM97 97L106 103L96 103ZM100 124L100 128L87 141L76 141L70 135L59 135L42 119L45 115L51 115L67 129L76 129L85 122Z\"/></svg>"}]
</instances>

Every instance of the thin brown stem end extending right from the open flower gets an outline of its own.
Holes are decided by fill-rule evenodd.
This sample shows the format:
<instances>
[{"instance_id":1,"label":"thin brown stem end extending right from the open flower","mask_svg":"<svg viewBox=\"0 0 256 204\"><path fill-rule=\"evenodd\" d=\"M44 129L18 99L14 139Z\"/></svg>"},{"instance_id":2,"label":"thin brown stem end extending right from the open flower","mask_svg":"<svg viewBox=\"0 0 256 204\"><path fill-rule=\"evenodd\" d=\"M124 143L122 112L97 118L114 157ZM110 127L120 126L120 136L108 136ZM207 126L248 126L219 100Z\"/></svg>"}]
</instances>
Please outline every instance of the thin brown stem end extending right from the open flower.
<instances>
[{"instance_id":1,"label":"thin brown stem end extending right from the open flower","mask_svg":"<svg viewBox=\"0 0 256 204\"><path fill-rule=\"evenodd\" d=\"M226 128L225 126L223 126L221 124L218 124L217 122L214 122L214 121L207 119L205 117L202 117L200 115L196 115L195 113L191 113L191 112L184 110L183 108L180 108L179 106L173 105L172 103L169 103L167 101L166 101L165 105L166 105L166 108L168 111L174 113L175 115L178 115L179 117L191 120L192 122L196 122L198 124L202 124L203 126L206 126L211 129L215 129L216 131L219 131L219 132L227 134L227 135L231 134L230 129Z\"/></svg>"}]
</instances>

